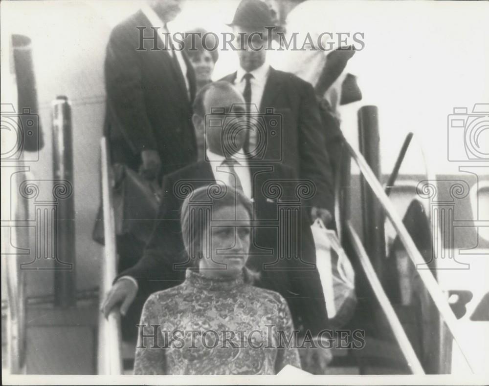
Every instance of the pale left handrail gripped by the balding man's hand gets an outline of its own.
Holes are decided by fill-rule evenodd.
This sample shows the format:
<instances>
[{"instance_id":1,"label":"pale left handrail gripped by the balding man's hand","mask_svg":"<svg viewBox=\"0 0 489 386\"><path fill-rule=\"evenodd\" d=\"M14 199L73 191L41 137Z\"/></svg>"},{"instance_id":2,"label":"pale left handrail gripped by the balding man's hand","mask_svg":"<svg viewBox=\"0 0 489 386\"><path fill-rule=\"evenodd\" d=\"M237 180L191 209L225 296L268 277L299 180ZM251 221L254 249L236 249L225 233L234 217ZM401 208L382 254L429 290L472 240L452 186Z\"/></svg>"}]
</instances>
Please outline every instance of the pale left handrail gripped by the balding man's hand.
<instances>
[{"instance_id":1,"label":"pale left handrail gripped by the balding man's hand","mask_svg":"<svg viewBox=\"0 0 489 386\"><path fill-rule=\"evenodd\" d=\"M102 277L100 282L100 300L110 290L117 270L115 247L115 225L112 206L110 160L105 137L100 141L102 171L102 202L104 209L104 259L102 260ZM114 311L107 319L103 314L99 318L98 373L107 375L122 374L122 348L120 316Z\"/></svg>"}]
</instances>

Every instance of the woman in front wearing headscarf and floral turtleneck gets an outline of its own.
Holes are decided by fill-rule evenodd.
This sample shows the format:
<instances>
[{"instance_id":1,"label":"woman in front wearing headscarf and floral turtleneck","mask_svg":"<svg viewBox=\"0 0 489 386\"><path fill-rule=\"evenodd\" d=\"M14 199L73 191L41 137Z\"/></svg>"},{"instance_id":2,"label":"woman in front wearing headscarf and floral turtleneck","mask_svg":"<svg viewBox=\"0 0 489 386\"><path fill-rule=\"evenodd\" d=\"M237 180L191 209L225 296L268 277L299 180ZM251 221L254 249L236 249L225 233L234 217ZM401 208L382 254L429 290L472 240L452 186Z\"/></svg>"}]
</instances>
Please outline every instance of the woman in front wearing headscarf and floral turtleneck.
<instances>
[{"instance_id":1,"label":"woman in front wearing headscarf and floral turtleneck","mask_svg":"<svg viewBox=\"0 0 489 386\"><path fill-rule=\"evenodd\" d=\"M276 374L288 364L300 368L287 302L253 286L256 273L245 267L251 203L229 186L219 192L212 187L196 189L183 202L182 235L193 268L184 283L146 301L134 374Z\"/></svg>"}]
</instances>

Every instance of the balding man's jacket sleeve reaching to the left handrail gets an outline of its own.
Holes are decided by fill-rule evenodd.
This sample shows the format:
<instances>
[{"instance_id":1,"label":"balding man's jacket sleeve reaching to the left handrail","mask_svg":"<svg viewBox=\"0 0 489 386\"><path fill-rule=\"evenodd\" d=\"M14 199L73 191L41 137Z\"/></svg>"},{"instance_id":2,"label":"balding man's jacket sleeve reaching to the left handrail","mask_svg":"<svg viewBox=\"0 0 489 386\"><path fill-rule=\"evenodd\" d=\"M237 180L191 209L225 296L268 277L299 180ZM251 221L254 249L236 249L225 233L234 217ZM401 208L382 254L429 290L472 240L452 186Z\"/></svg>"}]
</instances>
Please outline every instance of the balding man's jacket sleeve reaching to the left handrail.
<instances>
[{"instance_id":1,"label":"balding man's jacket sleeve reaching to the left handrail","mask_svg":"<svg viewBox=\"0 0 489 386\"><path fill-rule=\"evenodd\" d=\"M186 255L180 229L180 205L173 186L174 181L166 177L158 220L143 256L118 276L136 279L141 296L178 285L184 278L185 268L175 265L181 263Z\"/></svg>"}]
</instances>

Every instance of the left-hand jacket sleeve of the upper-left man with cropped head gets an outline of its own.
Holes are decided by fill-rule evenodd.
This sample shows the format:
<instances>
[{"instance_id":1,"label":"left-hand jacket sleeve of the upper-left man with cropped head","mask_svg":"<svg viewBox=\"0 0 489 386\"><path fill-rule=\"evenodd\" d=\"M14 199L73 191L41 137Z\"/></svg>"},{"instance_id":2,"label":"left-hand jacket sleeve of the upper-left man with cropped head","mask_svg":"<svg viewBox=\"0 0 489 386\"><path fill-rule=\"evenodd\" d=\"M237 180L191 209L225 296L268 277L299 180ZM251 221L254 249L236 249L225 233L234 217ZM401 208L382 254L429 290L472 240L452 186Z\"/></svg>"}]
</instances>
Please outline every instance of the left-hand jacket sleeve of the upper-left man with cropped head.
<instances>
[{"instance_id":1,"label":"left-hand jacket sleeve of the upper-left man with cropped head","mask_svg":"<svg viewBox=\"0 0 489 386\"><path fill-rule=\"evenodd\" d=\"M141 82L141 52L136 51L134 31L124 24L114 28L107 45L105 85L107 108L135 153L155 149L153 128L146 113Z\"/></svg>"}]
</instances>

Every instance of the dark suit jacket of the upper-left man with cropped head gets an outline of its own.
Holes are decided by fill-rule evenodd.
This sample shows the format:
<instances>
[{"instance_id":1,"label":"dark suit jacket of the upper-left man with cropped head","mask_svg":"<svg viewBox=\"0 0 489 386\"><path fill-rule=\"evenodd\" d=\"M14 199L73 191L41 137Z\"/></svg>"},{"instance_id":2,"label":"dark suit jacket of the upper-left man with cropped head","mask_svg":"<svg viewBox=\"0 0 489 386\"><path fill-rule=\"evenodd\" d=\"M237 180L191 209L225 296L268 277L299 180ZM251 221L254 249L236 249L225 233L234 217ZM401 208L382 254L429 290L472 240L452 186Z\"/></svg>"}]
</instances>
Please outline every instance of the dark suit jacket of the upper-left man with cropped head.
<instances>
[{"instance_id":1,"label":"dark suit jacket of the upper-left man with cropped head","mask_svg":"<svg viewBox=\"0 0 489 386\"><path fill-rule=\"evenodd\" d=\"M144 49L138 50L136 27L146 27L144 36L153 36L150 26L144 13L138 11L111 32L105 60L105 135L112 162L137 169L140 152L154 149L160 155L164 175L197 159L192 124L195 73L182 52L187 63L189 100L184 80L178 76L169 51L163 50L161 38L156 45L160 50L152 50L153 40L144 40Z\"/></svg>"}]
</instances>

